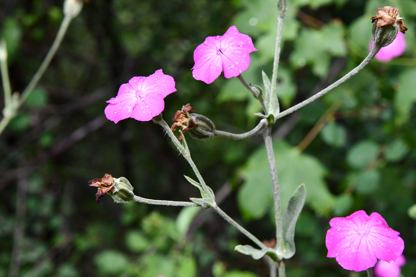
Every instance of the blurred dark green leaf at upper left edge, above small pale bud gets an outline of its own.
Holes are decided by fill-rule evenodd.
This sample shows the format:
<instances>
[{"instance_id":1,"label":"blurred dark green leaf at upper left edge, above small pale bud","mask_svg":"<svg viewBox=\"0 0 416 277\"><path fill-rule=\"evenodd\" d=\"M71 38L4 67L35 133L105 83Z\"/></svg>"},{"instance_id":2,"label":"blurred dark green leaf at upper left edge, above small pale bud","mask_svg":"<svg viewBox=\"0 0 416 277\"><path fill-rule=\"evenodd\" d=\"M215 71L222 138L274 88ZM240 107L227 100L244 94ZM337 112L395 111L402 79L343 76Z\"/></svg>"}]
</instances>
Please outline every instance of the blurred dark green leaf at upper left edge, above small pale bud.
<instances>
[{"instance_id":1,"label":"blurred dark green leaf at upper left edge, above small pale bud","mask_svg":"<svg viewBox=\"0 0 416 277\"><path fill-rule=\"evenodd\" d=\"M1 36L6 41L8 58L11 60L22 43L22 27L14 18L9 17L3 22Z\"/></svg>"}]
</instances>

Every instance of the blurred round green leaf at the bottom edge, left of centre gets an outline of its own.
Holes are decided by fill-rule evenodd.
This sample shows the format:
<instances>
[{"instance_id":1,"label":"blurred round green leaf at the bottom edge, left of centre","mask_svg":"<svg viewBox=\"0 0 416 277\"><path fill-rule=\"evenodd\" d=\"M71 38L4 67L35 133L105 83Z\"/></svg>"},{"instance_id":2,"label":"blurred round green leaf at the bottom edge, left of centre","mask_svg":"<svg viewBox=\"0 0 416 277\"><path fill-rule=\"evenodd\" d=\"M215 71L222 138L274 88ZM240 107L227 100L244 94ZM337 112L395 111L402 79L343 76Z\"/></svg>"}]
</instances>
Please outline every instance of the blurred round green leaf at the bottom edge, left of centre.
<instances>
[{"instance_id":1,"label":"blurred round green leaf at the bottom edge, left of centre","mask_svg":"<svg viewBox=\"0 0 416 277\"><path fill-rule=\"evenodd\" d=\"M94 257L94 264L99 272L119 276L129 267L127 256L116 250L106 250Z\"/></svg>"}]
</instances>

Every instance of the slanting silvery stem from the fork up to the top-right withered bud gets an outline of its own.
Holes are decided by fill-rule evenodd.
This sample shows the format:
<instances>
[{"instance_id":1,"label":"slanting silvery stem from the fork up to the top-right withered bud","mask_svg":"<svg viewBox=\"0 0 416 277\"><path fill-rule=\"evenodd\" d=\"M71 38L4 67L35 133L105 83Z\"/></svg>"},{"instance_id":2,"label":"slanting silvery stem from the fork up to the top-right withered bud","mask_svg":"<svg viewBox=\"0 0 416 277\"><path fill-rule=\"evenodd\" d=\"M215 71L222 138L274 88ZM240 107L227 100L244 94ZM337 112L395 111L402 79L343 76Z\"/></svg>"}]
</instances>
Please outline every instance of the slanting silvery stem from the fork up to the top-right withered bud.
<instances>
[{"instance_id":1,"label":"slanting silvery stem from the fork up to the top-right withered bud","mask_svg":"<svg viewBox=\"0 0 416 277\"><path fill-rule=\"evenodd\" d=\"M288 115L288 114L291 114L294 111L297 111L298 109L306 106L307 104L311 103L312 101L315 101L316 99L323 96L324 94L327 94L332 89L338 87L340 84L347 81L349 78L351 78L352 76L357 74L361 69L363 69L371 61L371 59L374 58L374 56L377 54L377 52L379 52L379 50L380 50L380 48L374 47L371 50L371 52L368 54L368 56L361 62L361 64L359 64L359 66L357 66L356 68L354 68L350 72L348 72L344 77L339 79L337 82L334 82L332 85L330 85L326 89L322 89L320 92L318 92L314 96L311 96L310 98L306 99L305 101L302 101L299 104L297 104L297 105L295 105L295 106L293 106L293 107L291 107L291 108L289 108L285 111L282 111L280 114L277 114L275 116L275 119L279 119L279 118L281 118L285 115Z\"/></svg>"}]
</instances>

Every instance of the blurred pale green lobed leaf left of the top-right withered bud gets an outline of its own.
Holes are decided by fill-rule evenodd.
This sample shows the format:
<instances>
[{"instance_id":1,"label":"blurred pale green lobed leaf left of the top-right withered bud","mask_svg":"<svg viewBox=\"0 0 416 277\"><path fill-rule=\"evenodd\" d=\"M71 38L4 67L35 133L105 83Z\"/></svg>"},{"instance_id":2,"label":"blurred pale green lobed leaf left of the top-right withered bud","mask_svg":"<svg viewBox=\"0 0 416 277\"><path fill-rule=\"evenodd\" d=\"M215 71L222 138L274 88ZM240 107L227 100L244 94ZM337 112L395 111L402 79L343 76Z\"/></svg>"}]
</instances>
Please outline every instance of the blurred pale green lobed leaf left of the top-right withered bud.
<instances>
[{"instance_id":1,"label":"blurred pale green lobed leaf left of the top-right withered bud","mask_svg":"<svg viewBox=\"0 0 416 277\"><path fill-rule=\"evenodd\" d=\"M327 75L331 57L346 54L344 27L341 22L333 21L319 30L303 29L295 40L290 64L293 68L300 68L299 60L305 59L315 75L324 77Z\"/></svg>"}]
</instances>

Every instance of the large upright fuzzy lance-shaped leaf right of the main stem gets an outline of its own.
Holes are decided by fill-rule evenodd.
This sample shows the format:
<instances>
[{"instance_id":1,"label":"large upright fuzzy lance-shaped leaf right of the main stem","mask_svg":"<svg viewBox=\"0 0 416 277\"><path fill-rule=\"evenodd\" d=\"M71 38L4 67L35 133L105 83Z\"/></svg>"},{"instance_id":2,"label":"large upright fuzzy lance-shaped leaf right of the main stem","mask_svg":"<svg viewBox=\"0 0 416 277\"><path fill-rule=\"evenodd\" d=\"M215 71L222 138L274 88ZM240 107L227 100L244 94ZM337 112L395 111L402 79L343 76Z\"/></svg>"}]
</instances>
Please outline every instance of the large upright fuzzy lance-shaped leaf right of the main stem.
<instances>
[{"instance_id":1,"label":"large upright fuzzy lance-shaped leaf right of the main stem","mask_svg":"<svg viewBox=\"0 0 416 277\"><path fill-rule=\"evenodd\" d=\"M283 257L289 259L295 255L295 225L297 218L302 211L303 205L306 199L306 188L305 184L301 184L297 187L292 197L289 199L289 205L285 213L283 214L283 236L285 238L285 253Z\"/></svg>"}]
</instances>

